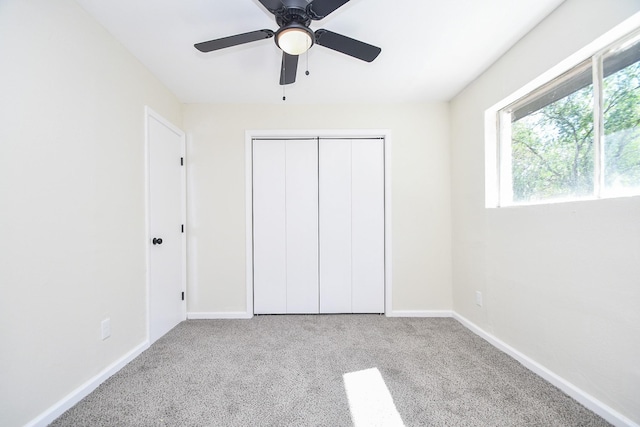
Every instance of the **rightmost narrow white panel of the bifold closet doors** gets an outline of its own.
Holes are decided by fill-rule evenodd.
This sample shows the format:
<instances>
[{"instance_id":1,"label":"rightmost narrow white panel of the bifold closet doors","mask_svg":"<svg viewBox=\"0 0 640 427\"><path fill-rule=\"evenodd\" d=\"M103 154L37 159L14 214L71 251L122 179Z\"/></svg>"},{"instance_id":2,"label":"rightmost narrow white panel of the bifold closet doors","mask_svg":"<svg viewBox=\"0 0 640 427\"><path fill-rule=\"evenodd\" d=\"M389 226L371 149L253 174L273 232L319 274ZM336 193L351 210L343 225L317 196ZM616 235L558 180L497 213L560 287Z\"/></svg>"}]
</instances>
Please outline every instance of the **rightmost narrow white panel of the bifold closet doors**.
<instances>
[{"instance_id":1,"label":"rightmost narrow white panel of the bifold closet doors","mask_svg":"<svg viewBox=\"0 0 640 427\"><path fill-rule=\"evenodd\" d=\"M384 147L351 143L352 311L384 313Z\"/></svg>"}]
</instances>

